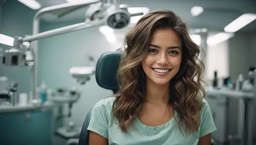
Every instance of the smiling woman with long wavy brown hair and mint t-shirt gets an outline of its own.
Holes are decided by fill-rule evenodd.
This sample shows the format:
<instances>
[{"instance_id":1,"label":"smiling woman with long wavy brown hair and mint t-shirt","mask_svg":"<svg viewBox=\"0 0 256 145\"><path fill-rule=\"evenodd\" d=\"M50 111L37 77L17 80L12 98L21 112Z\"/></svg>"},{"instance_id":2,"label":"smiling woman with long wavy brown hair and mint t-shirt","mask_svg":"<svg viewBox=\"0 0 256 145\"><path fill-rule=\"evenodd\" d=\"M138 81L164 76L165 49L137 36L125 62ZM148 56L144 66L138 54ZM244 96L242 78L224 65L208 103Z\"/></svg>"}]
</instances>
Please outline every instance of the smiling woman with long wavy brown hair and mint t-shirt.
<instances>
[{"instance_id":1,"label":"smiling woman with long wavy brown hair and mint t-shirt","mask_svg":"<svg viewBox=\"0 0 256 145\"><path fill-rule=\"evenodd\" d=\"M174 12L143 16L125 37L120 90L92 110L90 145L210 145L199 46ZM194 81L194 78L198 79Z\"/></svg>"}]
</instances>

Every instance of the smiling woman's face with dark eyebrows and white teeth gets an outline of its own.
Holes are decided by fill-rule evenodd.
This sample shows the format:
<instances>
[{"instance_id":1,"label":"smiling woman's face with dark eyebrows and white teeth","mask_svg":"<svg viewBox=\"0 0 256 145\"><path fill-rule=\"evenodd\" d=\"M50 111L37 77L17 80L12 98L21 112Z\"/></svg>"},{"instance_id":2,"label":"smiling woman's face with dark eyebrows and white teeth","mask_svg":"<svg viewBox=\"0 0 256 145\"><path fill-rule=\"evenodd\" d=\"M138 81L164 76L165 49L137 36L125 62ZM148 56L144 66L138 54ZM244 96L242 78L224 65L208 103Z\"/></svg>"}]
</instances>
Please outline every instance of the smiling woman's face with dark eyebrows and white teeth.
<instances>
[{"instance_id":1,"label":"smiling woman's face with dark eyebrows and white teeth","mask_svg":"<svg viewBox=\"0 0 256 145\"><path fill-rule=\"evenodd\" d=\"M172 29L157 29L142 62L143 71L147 79L155 84L168 84L178 73L181 58L181 41L176 32Z\"/></svg>"}]
</instances>

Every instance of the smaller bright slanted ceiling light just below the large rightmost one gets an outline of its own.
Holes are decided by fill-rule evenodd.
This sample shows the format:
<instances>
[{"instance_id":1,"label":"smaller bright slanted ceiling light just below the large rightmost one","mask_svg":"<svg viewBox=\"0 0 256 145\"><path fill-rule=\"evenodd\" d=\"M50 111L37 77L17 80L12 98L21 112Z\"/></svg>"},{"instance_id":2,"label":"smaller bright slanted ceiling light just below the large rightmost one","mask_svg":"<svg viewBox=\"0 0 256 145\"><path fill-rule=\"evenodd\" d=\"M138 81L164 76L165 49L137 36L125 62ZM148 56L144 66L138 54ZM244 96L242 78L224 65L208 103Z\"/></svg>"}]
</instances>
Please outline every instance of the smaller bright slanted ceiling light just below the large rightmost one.
<instances>
[{"instance_id":1,"label":"smaller bright slanted ceiling light just below the large rightmost one","mask_svg":"<svg viewBox=\"0 0 256 145\"><path fill-rule=\"evenodd\" d=\"M234 37L235 34L234 33L225 33L225 32L220 32L216 35L213 35L212 37L209 37L207 39L207 45L208 46L214 46L217 45L223 41L226 41L232 37Z\"/></svg>"}]
</instances>

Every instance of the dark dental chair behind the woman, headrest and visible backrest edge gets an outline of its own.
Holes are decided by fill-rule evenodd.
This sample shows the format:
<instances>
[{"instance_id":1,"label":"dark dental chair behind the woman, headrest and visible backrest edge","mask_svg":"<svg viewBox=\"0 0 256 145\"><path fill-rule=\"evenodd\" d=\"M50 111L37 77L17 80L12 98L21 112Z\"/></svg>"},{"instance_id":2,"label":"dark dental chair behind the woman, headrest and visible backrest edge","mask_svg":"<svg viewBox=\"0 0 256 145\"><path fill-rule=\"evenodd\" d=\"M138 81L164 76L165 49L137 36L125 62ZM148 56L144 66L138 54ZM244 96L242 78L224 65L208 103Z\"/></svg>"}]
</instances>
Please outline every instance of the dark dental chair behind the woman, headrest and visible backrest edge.
<instances>
[{"instance_id":1,"label":"dark dental chair behind the woman, headrest and visible backrest edge","mask_svg":"<svg viewBox=\"0 0 256 145\"><path fill-rule=\"evenodd\" d=\"M116 79L116 73L119 68L119 61L122 52L106 52L103 53L96 64L95 77L100 87L112 90L116 93L119 85ZM87 130L91 117L91 110L87 113L84 124L79 137L78 145L89 145L89 133Z\"/></svg>"}]
</instances>

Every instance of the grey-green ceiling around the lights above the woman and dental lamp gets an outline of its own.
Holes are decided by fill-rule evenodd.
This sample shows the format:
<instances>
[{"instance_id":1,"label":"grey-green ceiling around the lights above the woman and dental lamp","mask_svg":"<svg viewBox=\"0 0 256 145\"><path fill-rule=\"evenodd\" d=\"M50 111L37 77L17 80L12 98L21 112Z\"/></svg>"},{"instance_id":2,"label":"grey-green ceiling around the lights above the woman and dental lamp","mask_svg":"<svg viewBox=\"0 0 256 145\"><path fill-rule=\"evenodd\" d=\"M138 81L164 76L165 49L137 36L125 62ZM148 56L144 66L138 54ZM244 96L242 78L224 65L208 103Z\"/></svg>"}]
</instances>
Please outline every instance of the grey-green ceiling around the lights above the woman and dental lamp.
<instances>
[{"instance_id":1,"label":"grey-green ceiling around the lights above the woman and dental lamp","mask_svg":"<svg viewBox=\"0 0 256 145\"><path fill-rule=\"evenodd\" d=\"M42 7L67 3L66 0L37 0ZM169 9L178 14L190 28L207 28L223 31L231 21L244 13L256 13L256 0L121 0L130 7L148 7L155 9ZM202 6L204 12L197 17L190 14L193 6ZM83 20L86 9L67 14L57 19L48 14L44 20L49 23ZM256 32L256 20L245 26L241 32Z\"/></svg>"}]
</instances>

